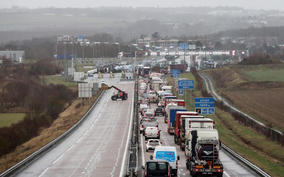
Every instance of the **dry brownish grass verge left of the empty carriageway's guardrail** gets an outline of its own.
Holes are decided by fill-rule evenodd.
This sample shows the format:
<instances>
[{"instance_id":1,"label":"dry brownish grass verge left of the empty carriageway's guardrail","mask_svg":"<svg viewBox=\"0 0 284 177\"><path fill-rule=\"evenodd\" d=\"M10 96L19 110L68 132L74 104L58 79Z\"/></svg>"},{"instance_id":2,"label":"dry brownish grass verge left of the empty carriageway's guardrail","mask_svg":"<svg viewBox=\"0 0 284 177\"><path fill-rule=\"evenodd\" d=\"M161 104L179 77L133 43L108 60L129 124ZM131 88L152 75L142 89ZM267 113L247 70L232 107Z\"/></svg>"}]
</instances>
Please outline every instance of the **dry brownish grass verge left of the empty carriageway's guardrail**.
<instances>
[{"instance_id":1,"label":"dry brownish grass verge left of the empty carriageway's guardrail","mask_svg":"<svg viewBox=\"0 0 284 177\"><path fill-rule=\"evenodd\" d=\"M13 165L25 159L41 147L44 147L49 142L52 142L54 139L70 129L84 116L84 114L86 114L101 92L102 90L91 98L91 104L86 104L82 107L77 106L80 104L80 99L73 100L72 104L65 111L60 113L59 117L54 120L49 128L42 129L37 137L34 137L28 142L18 146L13 152L1 156L0 173L11 168Z\"/></svg>"}]
</instances>

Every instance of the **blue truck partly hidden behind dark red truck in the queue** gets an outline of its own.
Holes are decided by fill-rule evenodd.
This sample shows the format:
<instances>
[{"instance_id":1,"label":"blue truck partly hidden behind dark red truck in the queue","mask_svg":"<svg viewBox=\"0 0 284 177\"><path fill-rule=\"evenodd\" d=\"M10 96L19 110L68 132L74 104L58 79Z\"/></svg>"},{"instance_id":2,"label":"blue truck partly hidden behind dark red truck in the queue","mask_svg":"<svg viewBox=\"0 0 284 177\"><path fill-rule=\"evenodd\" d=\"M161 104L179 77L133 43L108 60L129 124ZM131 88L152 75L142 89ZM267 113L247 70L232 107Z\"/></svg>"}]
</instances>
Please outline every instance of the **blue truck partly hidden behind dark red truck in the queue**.
<instances>
[{"instance_id":1,"label":"blue truck partly hidden behind dark red truck in the queue","mask_svg":"<svg viewBox=\"0 0 284 177\"><path fill-rule=\"evenodd\" d=\"M184 106L171 106L168 113L168 133L173 135L175 129L176 112L177 111L187 111Z\"/></svg>"}]
</instances>

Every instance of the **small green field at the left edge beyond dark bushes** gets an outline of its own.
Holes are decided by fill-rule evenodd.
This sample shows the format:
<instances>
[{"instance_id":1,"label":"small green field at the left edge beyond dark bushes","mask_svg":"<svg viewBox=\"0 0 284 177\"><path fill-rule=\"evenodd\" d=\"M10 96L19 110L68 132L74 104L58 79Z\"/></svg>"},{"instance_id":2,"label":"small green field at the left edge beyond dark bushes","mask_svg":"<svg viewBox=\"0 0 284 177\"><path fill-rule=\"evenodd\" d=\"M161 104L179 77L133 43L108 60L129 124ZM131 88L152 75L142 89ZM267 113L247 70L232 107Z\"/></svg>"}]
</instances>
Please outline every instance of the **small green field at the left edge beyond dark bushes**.
<instances>
[{"instance_id":1,"label":"small green field at the left edge beyond dark bushes","mask_svg":"<svg viewBox=\"0 0 284 177\"><path fill-rule=\"evenodd\" d=\"M25 113L0 113L0 127L10 126L22 120Z\"/></svg>"}]
</instances>

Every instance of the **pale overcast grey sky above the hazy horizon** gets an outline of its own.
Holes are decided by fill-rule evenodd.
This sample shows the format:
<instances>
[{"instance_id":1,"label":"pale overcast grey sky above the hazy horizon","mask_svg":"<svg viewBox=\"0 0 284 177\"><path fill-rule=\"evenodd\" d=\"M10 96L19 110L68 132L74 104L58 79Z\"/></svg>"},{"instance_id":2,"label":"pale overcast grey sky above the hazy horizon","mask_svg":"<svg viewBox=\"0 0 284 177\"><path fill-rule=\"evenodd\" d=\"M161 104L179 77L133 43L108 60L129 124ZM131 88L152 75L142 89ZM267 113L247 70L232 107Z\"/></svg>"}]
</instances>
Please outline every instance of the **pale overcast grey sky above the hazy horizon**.
<instances>
[{"instance_id":1,"label":"pale overcast grey sky above the hazy horizon","mask_svg":"<svg viewBox=\"0 0 284 177\"><path fill-rule=\"evenodd\" d=\"M20 7L101 7L101 6L123 6L123 7L189 7L189 6L238 6L245 9L280 9L284 10L284 0L2 0L1 8L9 8L12 5Z\"/></svg>"}]
</instances>

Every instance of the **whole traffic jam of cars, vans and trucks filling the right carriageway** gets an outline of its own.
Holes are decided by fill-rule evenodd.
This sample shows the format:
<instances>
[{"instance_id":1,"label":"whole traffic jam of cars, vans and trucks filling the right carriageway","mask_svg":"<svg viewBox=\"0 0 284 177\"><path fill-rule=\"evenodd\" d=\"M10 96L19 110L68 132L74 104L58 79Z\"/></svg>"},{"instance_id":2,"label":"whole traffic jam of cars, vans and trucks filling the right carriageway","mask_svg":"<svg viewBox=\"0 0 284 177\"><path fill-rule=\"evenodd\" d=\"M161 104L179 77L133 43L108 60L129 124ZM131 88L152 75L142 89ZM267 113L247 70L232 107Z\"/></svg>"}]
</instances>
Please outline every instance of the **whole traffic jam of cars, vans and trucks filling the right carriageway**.
<instances>
[{"instance_id":1,"label":"whole traffic jam of cars, vans and trucks filling the right carriageway","mask_svg":"<svg viewBox=\"0 0 284 177\"><path fill-rule=\"evenodd\" d=\"M215 121L188 110L161 73L138 85L143 176L223 176Z\"/></svg>"}]
</instances>

